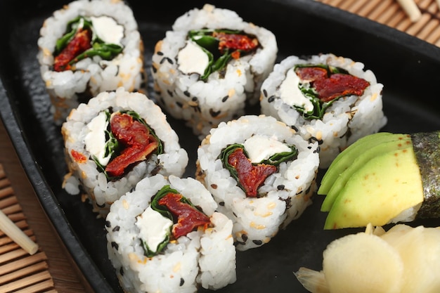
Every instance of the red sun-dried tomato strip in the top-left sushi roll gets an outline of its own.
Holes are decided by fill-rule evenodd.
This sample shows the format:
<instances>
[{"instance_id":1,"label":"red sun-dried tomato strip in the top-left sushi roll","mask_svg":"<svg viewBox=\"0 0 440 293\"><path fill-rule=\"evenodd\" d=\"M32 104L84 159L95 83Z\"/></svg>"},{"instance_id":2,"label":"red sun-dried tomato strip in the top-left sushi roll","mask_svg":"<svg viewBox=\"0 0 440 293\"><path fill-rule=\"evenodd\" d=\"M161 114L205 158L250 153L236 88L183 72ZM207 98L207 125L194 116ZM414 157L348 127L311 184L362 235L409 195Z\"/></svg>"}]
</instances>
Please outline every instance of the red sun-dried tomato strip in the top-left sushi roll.
<instances>
[{"instance_id":1,"label":"red sun-dried tomato strip in the top-left sushi roll","mask_svg":"<svg viewBox=\"0 0 440 293\"><path fill-rule=\"evenodd\" d=\"M91 48L91 30L78 30L72 41L55 57L53 70L64 71L70 69L70 61L74 60L79 54Z\"/></svg>"}]
</instances>

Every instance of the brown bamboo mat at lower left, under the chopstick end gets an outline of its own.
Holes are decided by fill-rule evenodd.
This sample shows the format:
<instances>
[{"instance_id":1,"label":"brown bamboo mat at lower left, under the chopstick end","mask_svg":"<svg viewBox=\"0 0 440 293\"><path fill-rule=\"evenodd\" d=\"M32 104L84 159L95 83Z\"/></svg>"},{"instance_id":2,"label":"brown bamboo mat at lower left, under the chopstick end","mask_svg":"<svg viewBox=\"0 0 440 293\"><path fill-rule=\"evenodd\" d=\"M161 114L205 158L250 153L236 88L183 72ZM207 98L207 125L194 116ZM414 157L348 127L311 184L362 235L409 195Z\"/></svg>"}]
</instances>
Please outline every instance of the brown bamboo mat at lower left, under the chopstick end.
<instances>
[{"instance_id":1,"label":"brown bamboo mat at lower left, under the chopstick end","mask_svg":"<svg viewBox=\"0 0 440 293\"><path fill-rule=\"evenodd\" d=\"M0 209L34 242L33 231L14 195L11 183L0 164ZM47 257L41 249L30 255L0 231L0 293L57 292L48 271Z\"/></svg>"}]
</instances>

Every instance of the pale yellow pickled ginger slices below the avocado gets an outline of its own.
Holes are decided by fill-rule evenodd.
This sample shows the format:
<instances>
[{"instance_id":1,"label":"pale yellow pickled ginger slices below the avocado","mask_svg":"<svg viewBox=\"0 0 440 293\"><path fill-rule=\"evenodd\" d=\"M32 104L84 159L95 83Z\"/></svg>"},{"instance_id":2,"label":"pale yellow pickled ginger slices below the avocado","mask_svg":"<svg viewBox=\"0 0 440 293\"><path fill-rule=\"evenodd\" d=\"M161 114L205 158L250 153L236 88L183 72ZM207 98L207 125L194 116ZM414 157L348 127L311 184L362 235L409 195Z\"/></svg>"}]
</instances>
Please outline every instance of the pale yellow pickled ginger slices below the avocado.
<instances>
[{"instance_id":1,"label":"pale yellow pickled ginger slices below the avocado","mask_svg":"<svg viewBox=\"0 0 440 293\"><path fill-rule=\"evenodd\" d=\"M312 293L440 292L440 228L403 224L341 237L323 252L323 270L299 268Z\"/></svg>"}]
</instances>

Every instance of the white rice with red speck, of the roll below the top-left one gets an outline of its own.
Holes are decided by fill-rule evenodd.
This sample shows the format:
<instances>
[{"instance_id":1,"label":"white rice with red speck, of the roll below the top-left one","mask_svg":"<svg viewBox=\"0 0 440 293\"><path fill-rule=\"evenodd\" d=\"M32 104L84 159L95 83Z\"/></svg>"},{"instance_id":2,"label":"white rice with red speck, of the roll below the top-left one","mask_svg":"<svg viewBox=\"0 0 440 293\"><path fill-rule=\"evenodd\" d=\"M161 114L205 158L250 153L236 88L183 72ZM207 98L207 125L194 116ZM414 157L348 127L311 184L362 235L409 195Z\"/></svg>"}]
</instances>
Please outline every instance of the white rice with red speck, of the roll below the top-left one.
<instances>
[{"instance_id":1,"label":"white rice with red speck, of the roll below the top-left one","mask_svg":"<svg viewBox=\"0 0 440 293\"><path fill-rule=\"evenodd\" d=\"M162 141L164 151L153 154L116 181L108 181L105 174L98 171L96 162L86 150L84 139L89 133L87 124L99 112L112 108L112 111L132 110L150 126ZM85 193L91 203L105 216L108 206L120 196L134 188L138 181L155 173L164 176L173 174L182 176L188 164L188 153L180 147L179 137L167 122L159 106L155 105L143 93L129 93L122 87L116 91L103 92L91 98L89 103L82 103L67 117L62 126L65 153L69 173L65 176L63 188L68 193ZM72 150L84 155L86 160L78 162L72 156Z\"/></svg>"}]
</instances>

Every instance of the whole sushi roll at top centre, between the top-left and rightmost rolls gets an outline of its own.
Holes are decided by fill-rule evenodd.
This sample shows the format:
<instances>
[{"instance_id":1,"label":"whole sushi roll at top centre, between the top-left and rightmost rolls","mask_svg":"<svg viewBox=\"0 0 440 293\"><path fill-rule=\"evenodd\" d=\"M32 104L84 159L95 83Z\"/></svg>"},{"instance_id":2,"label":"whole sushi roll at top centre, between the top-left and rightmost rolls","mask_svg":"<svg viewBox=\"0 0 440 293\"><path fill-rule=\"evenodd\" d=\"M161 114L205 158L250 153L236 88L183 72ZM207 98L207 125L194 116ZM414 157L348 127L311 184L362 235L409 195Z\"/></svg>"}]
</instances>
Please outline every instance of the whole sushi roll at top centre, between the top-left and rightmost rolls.
<instances>
[{"instance_id":1,"label":"whole sushi roll at top centre, between the top-left and rightmost rolls","mask_svg":"<svg viewBox=\"0 0 440 293\"><path fill-rule=\"evenodd\" d=\"M278 46L264 27L206 4L177 18L157 42L152 74L157 102L200 139L257 105Z\"/></svg>"}]
</instances>

